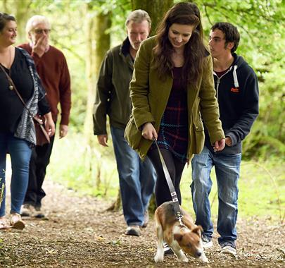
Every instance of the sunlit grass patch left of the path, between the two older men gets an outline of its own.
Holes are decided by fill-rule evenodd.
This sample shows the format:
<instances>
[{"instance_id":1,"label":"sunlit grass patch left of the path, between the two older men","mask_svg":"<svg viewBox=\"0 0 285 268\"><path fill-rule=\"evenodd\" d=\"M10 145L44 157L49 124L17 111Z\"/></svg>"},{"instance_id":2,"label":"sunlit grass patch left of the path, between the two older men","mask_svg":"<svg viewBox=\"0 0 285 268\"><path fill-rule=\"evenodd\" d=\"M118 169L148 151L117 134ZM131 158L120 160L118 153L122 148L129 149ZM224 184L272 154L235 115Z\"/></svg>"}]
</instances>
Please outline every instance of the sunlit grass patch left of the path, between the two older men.
<instances>
[{"instance_id":1,"label":"sunlit grass patch left of the path, between the two older men","mask_svg":"<svg viewBox=\"0 0 285 268\"><path fill-rule=\"evenodd\" d=\"M85 144L82 135L56 139L47 176L82 195L114 197L119 181L112 148Z\"/></svg>"}]
</instances>

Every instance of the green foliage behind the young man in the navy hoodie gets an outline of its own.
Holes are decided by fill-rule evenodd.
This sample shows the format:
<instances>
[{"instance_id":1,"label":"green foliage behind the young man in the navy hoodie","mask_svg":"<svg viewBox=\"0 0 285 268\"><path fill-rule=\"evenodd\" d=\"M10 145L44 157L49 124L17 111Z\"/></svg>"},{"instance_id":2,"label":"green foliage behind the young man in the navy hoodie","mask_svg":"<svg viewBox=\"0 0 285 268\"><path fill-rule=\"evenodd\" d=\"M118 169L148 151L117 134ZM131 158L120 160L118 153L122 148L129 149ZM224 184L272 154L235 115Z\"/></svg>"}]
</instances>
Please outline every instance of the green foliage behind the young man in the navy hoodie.
<instances>
[{"instance_id":1,"label":"green foliage behind the young man in the navy hoodie","mask_svg":"<svg viewBox=\"0 0 285 268\"><path fill-rule=\"evenodd\" d=\"M237 54L258 75L260 116L243 144L246 157L284 157L285 126L285 4L281 0L197 0L208 36L210 27L225 21L241 34Z\"/></svg>"}]
</instances>

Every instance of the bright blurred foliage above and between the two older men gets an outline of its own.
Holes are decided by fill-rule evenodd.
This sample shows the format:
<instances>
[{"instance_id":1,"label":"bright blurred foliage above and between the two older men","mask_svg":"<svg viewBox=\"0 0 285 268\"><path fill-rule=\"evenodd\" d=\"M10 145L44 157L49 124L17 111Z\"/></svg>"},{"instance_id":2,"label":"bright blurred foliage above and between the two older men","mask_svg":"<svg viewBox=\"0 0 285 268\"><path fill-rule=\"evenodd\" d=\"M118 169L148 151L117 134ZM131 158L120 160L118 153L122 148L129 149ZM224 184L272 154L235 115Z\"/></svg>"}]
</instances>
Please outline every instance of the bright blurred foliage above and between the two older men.
<instances>
[{"instance_id":1,"label":"bright blurred foliage above and between the two older men","mask_svg":"<svg viewBox=\"0 0 285 268\"><path fill-rule=\"evenodd\" d=\"M91 9L87 12L87 5ZM130 11L129 1L103 0L34 0L33 14L46 16L51 21L51 44L61 49L68 61L72 81L72 109L70 126L77 132L82 131L87 109L87 59L86 32L87 16L97 13L113 13L112 43L118 44L125 38L125 18ZM61 18L58 20L58 18ZM112 46L113 46L112 44ZM95 87L95 85L94 85Z\"/></svg>"}]
</instances>

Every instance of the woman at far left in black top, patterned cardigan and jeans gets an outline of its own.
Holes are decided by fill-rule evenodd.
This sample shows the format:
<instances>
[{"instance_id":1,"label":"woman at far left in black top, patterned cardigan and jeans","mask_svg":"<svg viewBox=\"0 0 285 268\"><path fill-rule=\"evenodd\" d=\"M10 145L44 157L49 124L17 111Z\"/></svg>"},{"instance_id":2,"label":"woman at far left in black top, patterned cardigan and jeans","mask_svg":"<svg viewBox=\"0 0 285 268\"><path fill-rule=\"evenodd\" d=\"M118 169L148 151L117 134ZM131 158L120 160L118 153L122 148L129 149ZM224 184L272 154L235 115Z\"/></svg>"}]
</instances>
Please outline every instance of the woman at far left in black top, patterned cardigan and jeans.
<instances>
[{"instance_id":1,"label":"woman at far left in black top, patterned cardigan and jeans","mask_svg":"<svg viewBox=\"0 0 285 268\"><path fill-rule=\"evenodd\" d=\"M34 62L25 50L13 46L16 36L15 18L0 13L0 229L25 227L20 217L20 207L27 190L32 147L37 142L32 116L38 111L44 114L46 131L53 135L55 130ZM30 112L15 90L18 90ZM7 152L11 156L12 166L11 225L7 224L5 218Z\"/></svg>"}]
</instances>

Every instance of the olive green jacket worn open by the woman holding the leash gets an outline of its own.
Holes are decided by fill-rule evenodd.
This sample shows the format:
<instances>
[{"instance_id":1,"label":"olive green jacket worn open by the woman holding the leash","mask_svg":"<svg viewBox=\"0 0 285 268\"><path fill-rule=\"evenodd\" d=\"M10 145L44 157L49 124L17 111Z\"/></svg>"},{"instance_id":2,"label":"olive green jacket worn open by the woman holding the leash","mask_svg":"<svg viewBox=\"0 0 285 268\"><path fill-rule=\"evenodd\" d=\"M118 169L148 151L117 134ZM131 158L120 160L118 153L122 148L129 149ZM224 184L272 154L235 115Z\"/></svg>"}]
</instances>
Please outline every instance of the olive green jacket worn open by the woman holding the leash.
<instances>
[{"instance_id":1,"label":"olive green jacket worn open by the woman holding the leash","mask_svg":"<svg viewBox=\"0 0 285 268\"><path fill-rule=\"evenodd\" d=\"M130 83L132 99L132 114L125 128L125 138L134 150L137 150L141 159L151 147L151 140L141 136L141 126L151 122L159 131L160 121L167 105L172 89L173 78L168 75L165 80L158 79L158 73L153 68L153 47L156 46L155 37L146 39L137 52L134 61L134 73ZM224 138L222 123L219 119L219 108L215 98L213 81L213 62L211 56L205 56L203 71L198 78L197 86L187 86L187 106L189 142L187 157L198 154L204 146L204 128L208 128L210 141L214 143Z\"/></svg>"}]
</instances>

